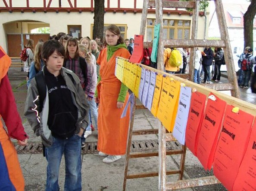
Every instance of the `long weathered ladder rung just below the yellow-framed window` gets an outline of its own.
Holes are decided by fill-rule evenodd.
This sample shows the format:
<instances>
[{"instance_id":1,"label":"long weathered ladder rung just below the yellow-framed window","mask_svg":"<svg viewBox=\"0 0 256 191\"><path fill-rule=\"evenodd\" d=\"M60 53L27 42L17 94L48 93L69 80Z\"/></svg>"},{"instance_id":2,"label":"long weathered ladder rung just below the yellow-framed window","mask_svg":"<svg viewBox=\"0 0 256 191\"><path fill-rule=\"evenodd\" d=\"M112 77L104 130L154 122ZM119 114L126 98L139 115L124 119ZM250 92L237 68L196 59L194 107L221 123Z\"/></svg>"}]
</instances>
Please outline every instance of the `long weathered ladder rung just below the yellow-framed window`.
<instances>
[{"instance_id":1,"label":"long weathered ladder rung just below the yellow-framed window","mask_svg":"<svg viewBox=\"0 0 256 191\"><path fill-rule=\"evenodd\" d=\"M152 47L153 42L144 42L144 48ZM224 40L202 40L202 39L165 39L163 40L164 47L222 47L226 48Z\"/></svg>"}]
</instances>

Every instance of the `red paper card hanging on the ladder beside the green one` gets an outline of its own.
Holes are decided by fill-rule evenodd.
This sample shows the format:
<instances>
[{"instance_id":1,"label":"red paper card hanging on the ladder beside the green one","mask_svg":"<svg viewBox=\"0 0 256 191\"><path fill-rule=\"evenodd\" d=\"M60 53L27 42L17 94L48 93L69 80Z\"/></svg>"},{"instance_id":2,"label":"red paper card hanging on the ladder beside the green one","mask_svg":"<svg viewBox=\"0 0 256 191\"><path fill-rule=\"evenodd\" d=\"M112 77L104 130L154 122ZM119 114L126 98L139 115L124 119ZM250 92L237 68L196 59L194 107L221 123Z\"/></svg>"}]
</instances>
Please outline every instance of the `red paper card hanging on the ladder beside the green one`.
<instances>
[{"instance_id":1,"label":"red paper card hanging on the ladder beside the green one","mask_svg":"<svg viewBox=\"0 0 256 191\"><path fill-rule=\"evenodd\" d=\"M134 49L130 62L140 63L143 58L143 35L134 35Z\"/></svg>"}]
</instances>

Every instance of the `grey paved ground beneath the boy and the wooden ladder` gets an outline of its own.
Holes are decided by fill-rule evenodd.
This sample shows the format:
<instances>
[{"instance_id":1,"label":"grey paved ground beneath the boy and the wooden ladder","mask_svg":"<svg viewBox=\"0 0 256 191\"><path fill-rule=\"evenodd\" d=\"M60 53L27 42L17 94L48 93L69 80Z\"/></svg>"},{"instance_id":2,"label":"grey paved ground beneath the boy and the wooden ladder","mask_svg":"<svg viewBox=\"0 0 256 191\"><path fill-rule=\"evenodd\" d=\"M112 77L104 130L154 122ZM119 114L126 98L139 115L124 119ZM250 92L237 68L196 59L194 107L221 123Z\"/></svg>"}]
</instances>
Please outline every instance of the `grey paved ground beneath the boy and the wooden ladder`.
<instances>
[{"instance_id":1,"label":"grey paved ground beneath the boy and the wooden ladder","mask_svg":"<svg viewBox=\"0 0 256 191\"><path fill-rule=\"evenodd\" d=\"M26 73L21 72L20 68L11 68L9 70L9 79L12 84L16 103L21 115L25 131L30 136L29 142L40 142L40 138L34 136L28 121L24 118L24 103L27 94L25 83ZM222 77L224 80L225 78ZM226 79L225 79L226 80ZM221 83L221 82L219 82ZM227 92L225 92L227 93ZM256 95L252 94L250 89L241 89L242 99L256 104ZM136 110L134 118L134 130L152 129L157 127L158 120L147 109ZM133 140L157 141L157 135L133 136ZM16 141L14 141L16 142ZM95 130L86 142L97 142L97 131ZM82 155L82 188L83 191L122 191L122 182L124 176L125 157L119 161L104 164L102 157L97 153ZM26 182L26 191L43 191L46 182L47 161L42 154L19 154L20 165ZM167 170L178 169L180 164L180 155L167 156ZM158 157L130 159L128 173L143 173L158 171ZM202 165L189 150L187 150L184 179L196 178L200 176L210 176L212 172L205 172ZM59 185L63 191L65 177L64 159L59 172ZM178 175L166 176L167 182L178 180ZM158 176L140 179L128 179L126 184L127 191L156 191L158 190ZM182 189L184 191L223 191L225 188L221 184L208 185L197 188Z\"/></svg>"}]
</instances>

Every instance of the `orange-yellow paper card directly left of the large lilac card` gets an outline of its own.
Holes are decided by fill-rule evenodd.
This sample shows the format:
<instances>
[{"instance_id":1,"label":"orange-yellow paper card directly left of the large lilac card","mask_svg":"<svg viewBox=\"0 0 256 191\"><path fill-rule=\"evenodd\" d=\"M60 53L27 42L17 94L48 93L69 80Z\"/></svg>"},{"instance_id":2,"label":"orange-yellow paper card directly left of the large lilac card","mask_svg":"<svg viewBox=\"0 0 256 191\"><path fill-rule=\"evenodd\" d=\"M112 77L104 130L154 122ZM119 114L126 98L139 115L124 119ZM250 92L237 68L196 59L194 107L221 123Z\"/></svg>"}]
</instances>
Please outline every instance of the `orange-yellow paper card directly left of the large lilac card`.
<instances>
[{"instance_id":1,"label":"orange-yellow paper card directly left of the large lilac card","mask_svg":"<svg viewBox=\"0 0 256 191\"><path fill-rule=\"evenodd\" d=\"M171 81L169 100L168 100L169 105L166 106L166 111L169 112L169 118L172 119L171 127L168 129L169 132L172 132L174 127L175 118L178 110L178 99L180 95L180 88L181 88L180 82L174 81L174 80Z\"/></svg>"}]
</instances>

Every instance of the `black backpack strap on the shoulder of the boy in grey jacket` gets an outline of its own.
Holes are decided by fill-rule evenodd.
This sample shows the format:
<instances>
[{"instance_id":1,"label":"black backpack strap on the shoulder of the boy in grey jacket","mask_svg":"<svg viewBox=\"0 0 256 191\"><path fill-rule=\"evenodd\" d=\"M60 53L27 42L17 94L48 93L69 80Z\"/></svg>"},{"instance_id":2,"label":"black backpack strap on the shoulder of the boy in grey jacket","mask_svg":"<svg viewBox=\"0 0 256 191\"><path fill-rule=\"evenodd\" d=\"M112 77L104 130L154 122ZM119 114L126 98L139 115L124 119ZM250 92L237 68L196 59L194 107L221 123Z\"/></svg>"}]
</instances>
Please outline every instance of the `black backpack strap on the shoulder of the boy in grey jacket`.
<instances>
[{"instance_id":1,"label":"black backpack strap on the shoulder of the boy in grey jacket","mask_svg":"<svg viewBox=\"0 0 256 191\"><path fill-rule=\"evenodd\" d=\"M35 75L35 80L37 82L37 90L38 90L38 95L39 95L39 103L40 106L38 108L38 112L41 112L44 106L44 99L46 97L46 83L44 80L44 73L43 71L38 72Z\"/></svg>"}]
</instances>

